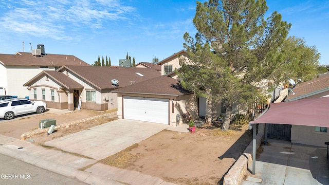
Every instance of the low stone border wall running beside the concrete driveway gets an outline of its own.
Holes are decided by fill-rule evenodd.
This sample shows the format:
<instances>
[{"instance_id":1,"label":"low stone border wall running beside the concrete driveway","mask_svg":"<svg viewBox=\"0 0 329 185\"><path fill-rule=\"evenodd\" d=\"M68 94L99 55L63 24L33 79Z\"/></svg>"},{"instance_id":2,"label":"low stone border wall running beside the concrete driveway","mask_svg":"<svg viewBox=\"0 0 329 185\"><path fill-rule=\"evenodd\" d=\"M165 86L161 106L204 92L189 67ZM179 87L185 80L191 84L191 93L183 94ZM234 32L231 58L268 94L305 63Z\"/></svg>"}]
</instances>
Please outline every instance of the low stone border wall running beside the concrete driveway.
<instances>
[{"instance_id":1,"label":"low stone border wall running beside the concrete driveway","mask_svg":"<svg viewBox=\"0 0 329 185\"><path fill-rule=\"evenodd\" d=\"M98 116L90 117L90 118L86 118L86 119L82 119L82 120L79 120L79 121L74 121L74 122L70 122L70 123L64 123L64 124L56 125L55 126L55 129L61 130L61 129L64 129L66 127L70 127L72 125L82 124L82 123L84 123L86 121L91 121L91 120L94 120L94 119L97 119L97 118L103 118L103 117L114 116L114 115L117 115L117 111L111 112L111 113L107 113L107 114L103 114L103 115L98 115ZM50 129L50 127L39 129L37 131L26 132L26 133L24 133L24 134L21 135L21 140L26 140L26 139L28 139L30 137L33 137L35 135L38 135L38 134L48 133L49 129Z\"/></svg>"}]
</instances>

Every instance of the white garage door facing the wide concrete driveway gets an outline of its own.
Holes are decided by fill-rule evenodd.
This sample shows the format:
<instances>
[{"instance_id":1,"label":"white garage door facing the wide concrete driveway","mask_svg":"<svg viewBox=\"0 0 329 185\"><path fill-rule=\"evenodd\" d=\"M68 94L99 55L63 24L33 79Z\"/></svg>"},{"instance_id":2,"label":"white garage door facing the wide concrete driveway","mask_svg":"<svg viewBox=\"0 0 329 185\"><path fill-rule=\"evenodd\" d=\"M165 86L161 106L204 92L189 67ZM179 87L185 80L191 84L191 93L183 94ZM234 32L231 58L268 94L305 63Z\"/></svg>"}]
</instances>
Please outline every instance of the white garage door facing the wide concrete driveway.
<instances>
[{"instance_id":1,"label":"white garage door facing the wide concrete driveway","mask_svg":"<svg viewBox=\"0 0 329 185\"><path fill-rule=\"evenodd\" d=\"M124 119L169 124L169 99L123 97Z\"/></svg>"}]
</instances>

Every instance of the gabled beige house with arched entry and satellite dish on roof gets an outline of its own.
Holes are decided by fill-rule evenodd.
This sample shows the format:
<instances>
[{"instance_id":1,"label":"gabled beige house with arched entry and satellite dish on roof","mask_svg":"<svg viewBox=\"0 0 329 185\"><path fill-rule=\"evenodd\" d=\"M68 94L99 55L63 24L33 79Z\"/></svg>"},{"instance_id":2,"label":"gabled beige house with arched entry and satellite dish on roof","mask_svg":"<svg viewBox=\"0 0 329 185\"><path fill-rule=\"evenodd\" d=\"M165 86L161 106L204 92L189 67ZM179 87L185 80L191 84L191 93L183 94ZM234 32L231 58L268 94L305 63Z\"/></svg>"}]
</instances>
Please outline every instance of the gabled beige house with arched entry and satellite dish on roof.
<instances>
[{"instance_id":1,"label":"gabled beige house with arched entry and satellite dish on roof","mask_svg":"<svg viewBox=\"0 0 329 185\"><path fill-rule=\"evenodd\" d=\"M24 86L31 100L45 101L50 108L74 110L81 99L83 109L108 110L118 107L111 90L159 76L151 68L66 65L42 71Z\"/></svg>"}]
</instances>

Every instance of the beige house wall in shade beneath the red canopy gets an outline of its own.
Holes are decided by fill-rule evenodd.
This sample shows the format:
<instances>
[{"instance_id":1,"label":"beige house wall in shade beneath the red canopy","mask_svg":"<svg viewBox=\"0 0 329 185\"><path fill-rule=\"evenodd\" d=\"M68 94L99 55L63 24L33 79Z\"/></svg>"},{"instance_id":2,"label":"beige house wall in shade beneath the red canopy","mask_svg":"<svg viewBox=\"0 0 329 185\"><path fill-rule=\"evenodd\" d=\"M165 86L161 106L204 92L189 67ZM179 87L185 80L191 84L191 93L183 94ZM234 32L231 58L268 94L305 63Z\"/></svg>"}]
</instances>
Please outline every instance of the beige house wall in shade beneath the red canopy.
<instances>
[{"instance_id":1,"label":"beige house wall in shade beneath the red canopy","mask_svg":"<svg viewBox=\"0 0 329 185\"><path fill-rule=\"evenodd\" d=\"M291 126L291 142L326 147L324 142L328 142L329 128L326 133L315 132L314 126Z\"/></svg>"}]
</instances>

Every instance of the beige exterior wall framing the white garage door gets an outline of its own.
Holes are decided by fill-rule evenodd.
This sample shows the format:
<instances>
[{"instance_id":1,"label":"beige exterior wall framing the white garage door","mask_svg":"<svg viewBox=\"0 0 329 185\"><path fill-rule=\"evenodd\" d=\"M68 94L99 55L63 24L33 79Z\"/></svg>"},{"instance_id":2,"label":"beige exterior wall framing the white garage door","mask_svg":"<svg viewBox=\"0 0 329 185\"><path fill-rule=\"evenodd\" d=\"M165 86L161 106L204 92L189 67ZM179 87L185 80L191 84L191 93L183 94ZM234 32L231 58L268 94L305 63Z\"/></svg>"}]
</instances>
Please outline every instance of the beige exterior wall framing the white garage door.
<instances>
[{"instance_id":1,"label":"beige exterior wall framing the white garage door","mask_svg":"<svg viewBox=\"0 0 329 185\"><path fill-rule=\"evenodd\" d=\"M148 97L148 98L165 98L169 99L169 125L176 125L176 124L182 124L182 114L189 112L191 115L195 116L195 98L191 95L185 95L185 96L160 96L160 95L138 95L138 94L122 94L119 93L117 96L117 102L118 102L118 118L122 119L124 118L123 115L123 96L135 96L135 97ZM180 116L179 122L177 122L177 114Z\"/></svg>"}]
</instances>

